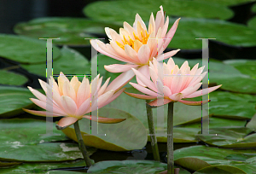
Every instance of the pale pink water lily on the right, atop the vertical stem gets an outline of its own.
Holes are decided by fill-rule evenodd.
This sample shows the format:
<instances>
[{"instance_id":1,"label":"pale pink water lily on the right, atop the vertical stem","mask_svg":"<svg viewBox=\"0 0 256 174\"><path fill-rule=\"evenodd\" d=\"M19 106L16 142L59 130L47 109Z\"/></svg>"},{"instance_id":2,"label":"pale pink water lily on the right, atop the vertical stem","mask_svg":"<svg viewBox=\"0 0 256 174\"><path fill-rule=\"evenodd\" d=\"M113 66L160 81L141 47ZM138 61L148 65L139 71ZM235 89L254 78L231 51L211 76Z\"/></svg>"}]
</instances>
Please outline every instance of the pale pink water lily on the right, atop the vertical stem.
<instances>
[{"instance_id":1,"label":"pale pink water lily on the right, atop the vertical stem","mask_svg":"<svg viewBox=\"0 0 256 174\"><path fill-rule=\"evenodd\" d=\"M140 99L155 99L153 102L148 103L151 106L158 106L157 100L159 98L163 99L162 104L182 102L186 105L201 105L208 101L188 102L182 99L206 95L213 90L217 90L221 86L218 85L198 90L201 87L202 78L207 74L207 72L202 73L204 67L198 68L198 63L190 70L188 61L185 61L183 65L178 68L172 58L169 59L167 64L159 63L154 59L153 63L151 61L149 62L148 69L151 80L146 78L143 73L140 73L136 69L132 69L137 75L137 78L139 78L148 88L145 88L140 84L130 83L134 88L146 95L128 92L125 92L125 94Z\"/></svg>"}]
</instances>

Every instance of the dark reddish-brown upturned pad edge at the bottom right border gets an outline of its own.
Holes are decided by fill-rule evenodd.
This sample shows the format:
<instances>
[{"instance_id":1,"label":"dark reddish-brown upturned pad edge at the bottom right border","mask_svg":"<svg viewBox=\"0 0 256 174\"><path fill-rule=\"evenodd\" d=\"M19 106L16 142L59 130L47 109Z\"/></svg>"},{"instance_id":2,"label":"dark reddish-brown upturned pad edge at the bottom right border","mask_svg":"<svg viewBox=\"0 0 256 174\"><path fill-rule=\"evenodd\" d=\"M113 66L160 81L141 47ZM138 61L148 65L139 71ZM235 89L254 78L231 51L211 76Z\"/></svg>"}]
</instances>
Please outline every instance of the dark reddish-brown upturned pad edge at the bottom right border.
<instances>
[{"instance_id":1,"label":"dark reddish-brown upturned pad edge at the bottom right border","mask_svg":"<svg viewBox=\"0 0 256 174\"><path fill-rule=\"evenodd\" d=\"M195 171L194 174L210 174L210 173L219 173L219 174L232 174L232 173L241 173L246 174L245 171L238 169L230 165L214 165L202 168L199 171Z\"/></svg>"}]
</instances>

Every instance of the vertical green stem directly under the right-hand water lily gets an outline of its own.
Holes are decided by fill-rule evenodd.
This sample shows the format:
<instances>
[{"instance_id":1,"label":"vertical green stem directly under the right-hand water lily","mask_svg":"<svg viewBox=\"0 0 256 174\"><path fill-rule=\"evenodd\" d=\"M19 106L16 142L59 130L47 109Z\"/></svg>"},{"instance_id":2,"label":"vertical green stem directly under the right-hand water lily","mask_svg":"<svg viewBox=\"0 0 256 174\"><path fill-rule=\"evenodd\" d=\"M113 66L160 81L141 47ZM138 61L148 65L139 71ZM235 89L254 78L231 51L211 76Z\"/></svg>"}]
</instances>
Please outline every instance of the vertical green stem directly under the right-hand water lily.
<instances>
[{"instance_id":1,"label":"vertical green stem directly under the right-hand water lily","mask_svg":"<svg viewBox=\"0 0 256 174\"><path fill-rule=\"evenodd\" d=\"M174 174L173 102L168 103L168 116L167 116L167 174Z\"/></svg>"}]
</instances>

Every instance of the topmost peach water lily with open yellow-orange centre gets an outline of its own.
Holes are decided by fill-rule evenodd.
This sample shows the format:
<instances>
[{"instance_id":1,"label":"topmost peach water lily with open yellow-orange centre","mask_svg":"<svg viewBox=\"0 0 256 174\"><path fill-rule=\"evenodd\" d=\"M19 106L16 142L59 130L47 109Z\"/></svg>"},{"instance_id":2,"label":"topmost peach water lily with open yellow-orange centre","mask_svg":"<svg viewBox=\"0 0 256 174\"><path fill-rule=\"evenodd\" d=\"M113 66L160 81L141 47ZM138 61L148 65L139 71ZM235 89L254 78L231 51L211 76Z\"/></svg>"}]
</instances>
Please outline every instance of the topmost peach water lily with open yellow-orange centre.
<instances>
[{"instance_id":1,"label":"topmost peach water lily with open yellow-orange centre","mask_svg":"<svg viewBox=\"0 0 256 174\"><path fill-rule=\"evenodd\" d=\"M140 15L136 14L133 27L124 22L124 28L119 29L119 34L111 28L105 28L110 44L104 44L100 40L90 40L90 44L103 55L127 63L104 66L108 72L122 73L135 68L140 73L148 74L149 61L153 58L162 61L175 55L179 50L163 53L176 32L179 20L176 20L167 32L169 17L167 16L165 20L163 8L160 6L155 20L153 13L151 14L148 29ZM137 82L143 85L138 78Z\"/></svg>"}]
</instances>

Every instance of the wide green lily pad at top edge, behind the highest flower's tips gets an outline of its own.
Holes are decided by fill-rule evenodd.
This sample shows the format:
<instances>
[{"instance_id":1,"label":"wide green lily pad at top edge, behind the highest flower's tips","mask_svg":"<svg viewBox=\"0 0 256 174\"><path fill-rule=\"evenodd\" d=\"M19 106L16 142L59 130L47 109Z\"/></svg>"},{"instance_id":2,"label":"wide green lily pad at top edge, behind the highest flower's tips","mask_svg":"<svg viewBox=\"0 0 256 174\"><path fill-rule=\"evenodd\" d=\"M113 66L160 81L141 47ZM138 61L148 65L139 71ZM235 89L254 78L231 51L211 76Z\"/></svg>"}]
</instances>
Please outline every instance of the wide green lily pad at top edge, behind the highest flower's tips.
<instances>
[{"instance_id":1,"label":"wide green lily pad at top edge, behind the highest flower's tips","mask_svg":"<svg viewBox=\"0 0 256 174\"><path fill-rule=\"evenodd\" d=\"M150 14L154 16L160 10L160 5L166 11L166 15L178 17L214 18L226 20L232 17L230 9L217 3L204 3L192 1L101 1L90 3L84 8L84 14L91 19L112 21L122 24L127 21L131 25L135 15L141 15L144 21L148 21Z\"/></svg>"}]
</instances>

